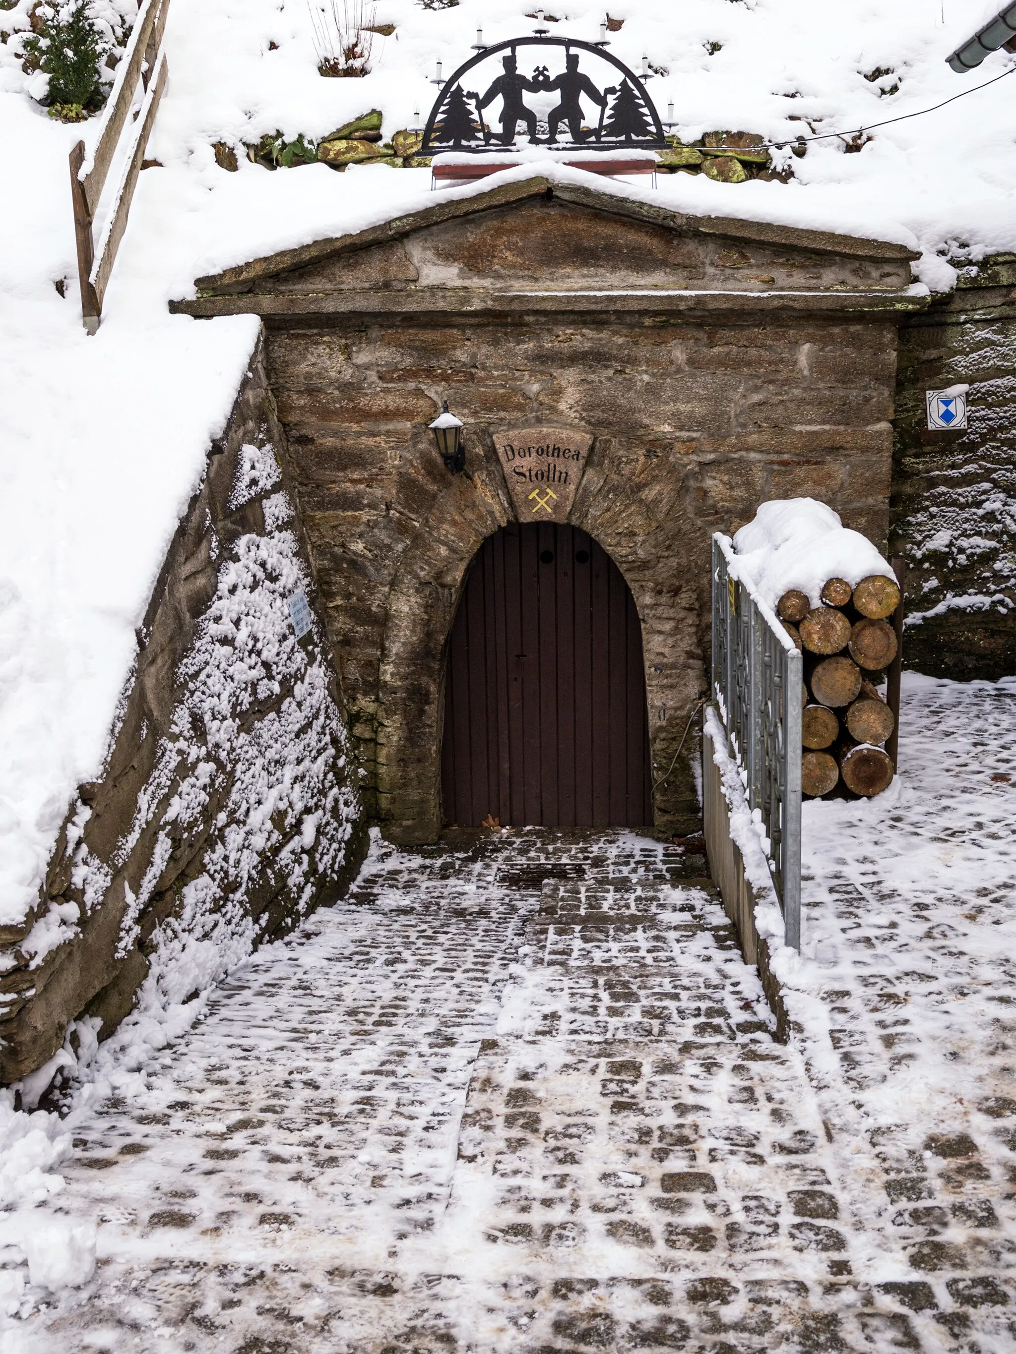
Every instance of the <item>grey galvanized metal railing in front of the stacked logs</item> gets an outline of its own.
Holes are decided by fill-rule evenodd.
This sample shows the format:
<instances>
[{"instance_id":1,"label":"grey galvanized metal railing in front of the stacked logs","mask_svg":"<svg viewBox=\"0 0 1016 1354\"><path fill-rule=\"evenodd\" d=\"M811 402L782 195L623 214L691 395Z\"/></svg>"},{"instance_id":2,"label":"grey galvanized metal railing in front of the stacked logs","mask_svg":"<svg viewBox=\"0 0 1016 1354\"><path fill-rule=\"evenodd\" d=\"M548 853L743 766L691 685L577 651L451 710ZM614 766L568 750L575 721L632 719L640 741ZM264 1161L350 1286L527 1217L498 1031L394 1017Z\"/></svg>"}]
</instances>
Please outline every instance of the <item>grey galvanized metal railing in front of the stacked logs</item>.
<instances>
[{"instance_id":1,"label":"grey galvanized metal railing in front of the stacked logs","mask_svg":"<svg viewBox=\"0 0 1016 1354\"><path fill-rule=\"evenodd\" d=\"M745 578L727 536L713 538L713 699L783 909L801 949L801 653ZM759 814L755 811L759 810Z\"/></svg>"}]
</instances>

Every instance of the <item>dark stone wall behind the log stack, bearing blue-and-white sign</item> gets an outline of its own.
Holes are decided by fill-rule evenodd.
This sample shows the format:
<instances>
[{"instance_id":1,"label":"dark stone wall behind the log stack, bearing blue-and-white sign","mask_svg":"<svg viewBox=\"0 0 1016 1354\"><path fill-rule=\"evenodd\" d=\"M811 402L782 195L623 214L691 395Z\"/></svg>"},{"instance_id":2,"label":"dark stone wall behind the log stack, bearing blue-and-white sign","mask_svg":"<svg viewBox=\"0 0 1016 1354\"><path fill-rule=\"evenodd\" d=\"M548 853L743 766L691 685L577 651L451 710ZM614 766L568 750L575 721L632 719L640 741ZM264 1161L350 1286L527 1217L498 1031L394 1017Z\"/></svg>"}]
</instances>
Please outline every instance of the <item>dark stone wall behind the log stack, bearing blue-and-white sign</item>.
<instances>
[{"instance_id":1,"label":"dark stone wall behind the log stack, bearing blue-and-white sign","mask_svg":"<svg viewBox=\"0 0 1016 1354\"><path fill-rule=\"evenodd\" d=\"M899 333L890 550L910 565L908 668L1016 672L1016 259L966 268ZM925 391L970 385L970 427L931 432Z\"/></svg>"}]
</instances>

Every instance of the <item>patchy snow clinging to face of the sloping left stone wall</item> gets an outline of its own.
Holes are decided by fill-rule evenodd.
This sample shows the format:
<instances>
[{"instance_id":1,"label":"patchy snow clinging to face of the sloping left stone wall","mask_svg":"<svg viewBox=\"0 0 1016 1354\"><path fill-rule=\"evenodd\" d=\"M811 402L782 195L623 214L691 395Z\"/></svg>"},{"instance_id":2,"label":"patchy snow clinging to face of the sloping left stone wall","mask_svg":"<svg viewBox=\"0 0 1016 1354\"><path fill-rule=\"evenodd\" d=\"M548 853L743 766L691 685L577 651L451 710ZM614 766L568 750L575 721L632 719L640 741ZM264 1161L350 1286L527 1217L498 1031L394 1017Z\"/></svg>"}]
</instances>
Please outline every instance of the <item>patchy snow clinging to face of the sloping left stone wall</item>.
<instances>
[{"instance_id":1,"label":"patchy snow clinging to face of the sloping left stone wall","mask_svg":"<svg viewBox=\"0 0 1016 1354\"><path fill-rule=\"evenodd\" d=\"M158 835L118 937L118 957L126 957L141 938L145 909L165 888L176 842L200 833L217 808L202 871L177 883L175 911L153 936L149 982L169 1002L221 978L259 933L303 917L321 879L341 871L358 816L320 636L308 651L287 609L287 597L308 586L297 539L289 528L248 533L232 555L180 666L186 695L154 777L167 787L156 800ZM118 860L129 858L146 815L154 816L150 802L140 804ZM279 894L259 917L257 902L272 888Z\"/></svg>"}]
</instances>

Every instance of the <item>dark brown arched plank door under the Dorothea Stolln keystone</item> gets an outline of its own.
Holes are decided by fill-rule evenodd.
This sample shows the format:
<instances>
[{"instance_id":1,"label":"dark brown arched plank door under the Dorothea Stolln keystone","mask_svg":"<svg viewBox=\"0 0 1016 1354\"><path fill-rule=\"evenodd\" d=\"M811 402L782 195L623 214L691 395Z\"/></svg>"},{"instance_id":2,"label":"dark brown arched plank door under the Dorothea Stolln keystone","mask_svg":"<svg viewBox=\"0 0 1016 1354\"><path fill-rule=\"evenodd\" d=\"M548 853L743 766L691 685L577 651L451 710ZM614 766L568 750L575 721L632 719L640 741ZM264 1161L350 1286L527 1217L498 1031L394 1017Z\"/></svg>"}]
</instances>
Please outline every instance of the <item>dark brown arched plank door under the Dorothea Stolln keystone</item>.
<instances>
[{"instance_id":1,"label":"dark brown arched plank door under the Dorothea Stolln keystone","mask_svg":"<svg viewBox=\"0 0 1016 1354\"><path fill-rule=\"evenodd\" d=\"M516 524L480 547L448 643L442 781L463 827L652 823L638 612L584 531Z\"/></svg>"}]
</instances>

